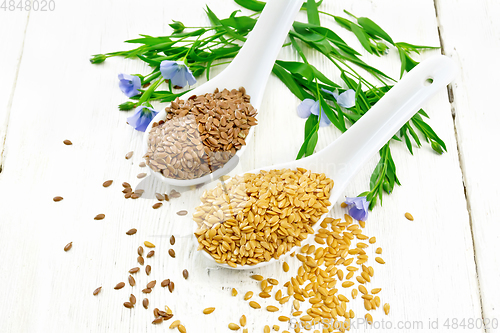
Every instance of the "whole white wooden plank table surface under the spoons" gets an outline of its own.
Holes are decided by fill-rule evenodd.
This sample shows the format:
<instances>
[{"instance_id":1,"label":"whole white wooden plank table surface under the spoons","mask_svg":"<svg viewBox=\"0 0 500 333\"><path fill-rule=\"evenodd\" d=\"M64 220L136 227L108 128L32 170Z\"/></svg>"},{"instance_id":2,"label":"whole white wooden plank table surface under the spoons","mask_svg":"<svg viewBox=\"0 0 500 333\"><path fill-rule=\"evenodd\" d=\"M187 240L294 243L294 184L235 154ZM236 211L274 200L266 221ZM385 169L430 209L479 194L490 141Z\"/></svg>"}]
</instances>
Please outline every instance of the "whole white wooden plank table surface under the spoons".
<instances>
[{"instance_id":1,"label":"whole white wooden plank table surface under the spoons","mask_svg":"<svg viewBox=\"0 0 500 333\"><path fill-rule=\"evenodd\" d=\"M290 313L290 303L279 313L251 309L243 301L246 291L258 290L250 272L217 269L196 254L189 215L176 212L192 211L203 189L178 188L181 198L158 210L151 208L151 196L123 198L120 184L139 182L142 135L126 125L128 114L117 110L126 99L117 74L146 73L146 67L121 58L99 66L88 62L91 54L125 49L122 41L139 33L169 34L172 19L189 26L208 24L205 3L220 17L238 9L229 0L55 0L54 11L0 11L0 332L159 332L168 330L169 323L152 325L151 309L165 305L188 332L226 332L242 314L250 332L262 332L266 324L285 329L277 317ZM500 320L500 181L495 171L500 2L325 0L321 9L368 16L396 41L440 45L460 67L448 91L425 106L448 152L438 156L424 146L411 156L404 144L393 145L403 185L370 213L366 231L377 237L387 262L375 266L372 285L381 287L382 302L391 304L389 316L378 310L374 320L390 322L393 329L403 325L398 332L500 332L492 325ZM305 14L298 19L305 20ZM321 19L365 54L332 19ZM318 68L338 77L324 58L310 56ZM280 58L296 55L284 49ZM392 76L399 74L397 59L395 50L383 58L367 56ZM292 160L303 140L303 120L295 115L299 101L276 77L267 87L256 135L233 173ZM317 150L338 136L333 127L322 128ZM65 139L73 145L63 145ZM128 151L135 154L125 160ZM366 165L345 195L366 190L376 162L373 158ZM113 185L103 188L108 179ZM156 182L148 186L155 192L170 190ZM57 195L64 200L53 202ZM407 211L413 222L404 218ZM95 221L99 213L106 218ZM333 217L343 214L338 204L331 212ZM137 234L125 235L130 228L137 228ZM167 254L172 234L175 259ZM157 248L148 259L151 276L139 274L138 285L171 278L176 287L169 293L157 286L148 297L150 310L141 305L129 310L122 303L131 288L113 287L126 282L144 240ZM70 241L73 248L64 252ZM287 262L288 274L277 266L254 273L284 282L298 268L294 258ZM188 280L181 276L185 268ZM103 290L95 297L98 286ZM230 295L232 288L237 297ZM140 302L139 290L134 288ZM353 308L362 317L365 311L357 303ZM216 312L203 315L209 306ZM480 325L482 319L487 328Z\"/></svg>"}]
</instances>

